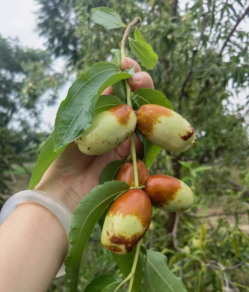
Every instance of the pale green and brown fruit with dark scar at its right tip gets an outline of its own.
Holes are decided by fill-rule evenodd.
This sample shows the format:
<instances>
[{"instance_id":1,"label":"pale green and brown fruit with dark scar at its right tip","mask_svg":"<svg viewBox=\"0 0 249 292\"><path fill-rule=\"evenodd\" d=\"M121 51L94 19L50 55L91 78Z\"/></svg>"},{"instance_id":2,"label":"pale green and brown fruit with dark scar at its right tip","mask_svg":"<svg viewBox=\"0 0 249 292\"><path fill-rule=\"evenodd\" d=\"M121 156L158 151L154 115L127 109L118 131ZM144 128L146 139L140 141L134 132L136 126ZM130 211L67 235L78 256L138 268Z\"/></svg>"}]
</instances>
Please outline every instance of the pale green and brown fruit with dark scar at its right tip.
<instances>
[{"instance_id":1,"label":"pale green and brown fruit with dark scar at its right tip","mask_svg":"<svg viewBox=\"0 0 249 292\"><path fill-rule=\"evenodd\" d=\"M139 132L163 149L185 152L195 144L195 129L167 107L144 104L139 107L136 115Z\"/></svg>"}]
</instances>

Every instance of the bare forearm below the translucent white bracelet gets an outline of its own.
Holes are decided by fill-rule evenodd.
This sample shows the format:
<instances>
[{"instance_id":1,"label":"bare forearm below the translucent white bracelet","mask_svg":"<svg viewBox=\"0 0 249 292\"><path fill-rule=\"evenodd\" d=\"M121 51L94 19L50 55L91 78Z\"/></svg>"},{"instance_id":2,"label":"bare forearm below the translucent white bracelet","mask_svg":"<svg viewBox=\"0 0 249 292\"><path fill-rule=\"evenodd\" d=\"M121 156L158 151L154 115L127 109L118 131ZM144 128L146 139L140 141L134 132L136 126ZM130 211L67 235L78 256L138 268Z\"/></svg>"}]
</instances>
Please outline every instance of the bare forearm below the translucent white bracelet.
<instances>
[{"instance_id":1,"label":"bare forearm below the translucent white bracelet","mask_svg":"<svg viewBox=\"0 0 249 292\"><path fill-rule=\"evenodd\" d=\"M47 291L67 252L59 219L39 204L20 204L0 226L0 291Z\"/></svg>"}]
</instances>

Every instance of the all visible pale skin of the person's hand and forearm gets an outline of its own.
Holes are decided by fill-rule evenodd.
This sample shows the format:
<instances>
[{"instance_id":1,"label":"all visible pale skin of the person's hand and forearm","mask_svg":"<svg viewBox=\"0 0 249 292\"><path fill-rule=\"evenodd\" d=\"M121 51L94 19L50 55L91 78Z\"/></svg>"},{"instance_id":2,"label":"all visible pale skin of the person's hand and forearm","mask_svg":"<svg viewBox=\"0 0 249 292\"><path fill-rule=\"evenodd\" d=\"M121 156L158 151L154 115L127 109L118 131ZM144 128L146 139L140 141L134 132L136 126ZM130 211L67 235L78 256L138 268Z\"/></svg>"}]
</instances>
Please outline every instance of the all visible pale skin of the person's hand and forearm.
<instances>
[{"instance_id":1,"label":"all visible pale skin of the person's hand and forearm","mask_svg":"<svg viewBox=\"0 0 249 292\"><path fill-rule=\"evenodd\" d=\"M131 90L153 88L153 81L141 72L137 62L126 57L124 70L134 66L136 73L128 82ZM103 94L112 94L111 87ZM136 152L142 155L138 139ZM87 156L74 143L56 158L35 189L57 197L73 212L80 200L99 184L99 175L111 161L130 154L130 140L115 150ZM36 203L22 203L0 226L0 291L45 292L54 280L68 253L67 235L58 218Z\"/></svg>"}]
</instances>

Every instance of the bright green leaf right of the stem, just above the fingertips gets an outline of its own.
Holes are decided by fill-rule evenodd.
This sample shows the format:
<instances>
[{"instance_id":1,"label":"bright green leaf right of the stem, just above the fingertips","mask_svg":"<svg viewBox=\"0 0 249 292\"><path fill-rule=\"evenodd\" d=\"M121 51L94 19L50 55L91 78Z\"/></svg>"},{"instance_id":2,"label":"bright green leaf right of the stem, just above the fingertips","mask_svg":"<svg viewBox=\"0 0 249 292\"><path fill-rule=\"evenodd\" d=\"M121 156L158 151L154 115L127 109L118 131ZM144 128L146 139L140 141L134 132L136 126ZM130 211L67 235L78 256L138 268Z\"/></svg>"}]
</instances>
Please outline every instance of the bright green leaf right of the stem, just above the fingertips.
<instances>
[{"instance_id":1,"label":"bright green leaf right of the stem, just above the fingertips","mask_svg":"<svg viewBox=\"0 0 249 292\"><path fill-rule=\"evenodd\" d=\"M157 63L158 56L153 48L145 42L135 41L129 38L129 47L134 55L140 60L141 65L146 69L153 69Z\"/></svg>"}]
</instances>

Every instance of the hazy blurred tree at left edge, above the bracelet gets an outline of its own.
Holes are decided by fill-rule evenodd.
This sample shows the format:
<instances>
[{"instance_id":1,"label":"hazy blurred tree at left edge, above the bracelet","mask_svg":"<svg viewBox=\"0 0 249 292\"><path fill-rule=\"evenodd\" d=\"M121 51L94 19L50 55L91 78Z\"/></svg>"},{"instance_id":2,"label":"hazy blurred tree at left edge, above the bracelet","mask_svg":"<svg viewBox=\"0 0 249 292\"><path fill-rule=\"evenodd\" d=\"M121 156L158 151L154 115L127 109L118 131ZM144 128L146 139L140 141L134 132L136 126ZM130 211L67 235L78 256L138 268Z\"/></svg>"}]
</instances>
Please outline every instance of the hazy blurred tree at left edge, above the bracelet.
<instances>
[{"instance_id":1,"label":"hazy blurred tree at left edge, above the bracelet","mask_svg":"<svg viewBox=\"0 0 249 292\"><path fill-rule=\"evenodd\" d=\"M62 74L51 68L45 51L22 48L0 36L0 193L9 192L13 163L23 167L39 153L46 135L36 133L42 104L52 104ZM48 92L44 96L45 92ZM35 150L35 151L34 151Z\"/></svg>"}]
</instances>

